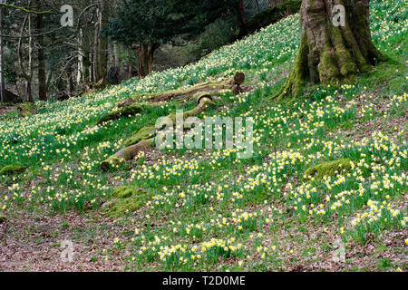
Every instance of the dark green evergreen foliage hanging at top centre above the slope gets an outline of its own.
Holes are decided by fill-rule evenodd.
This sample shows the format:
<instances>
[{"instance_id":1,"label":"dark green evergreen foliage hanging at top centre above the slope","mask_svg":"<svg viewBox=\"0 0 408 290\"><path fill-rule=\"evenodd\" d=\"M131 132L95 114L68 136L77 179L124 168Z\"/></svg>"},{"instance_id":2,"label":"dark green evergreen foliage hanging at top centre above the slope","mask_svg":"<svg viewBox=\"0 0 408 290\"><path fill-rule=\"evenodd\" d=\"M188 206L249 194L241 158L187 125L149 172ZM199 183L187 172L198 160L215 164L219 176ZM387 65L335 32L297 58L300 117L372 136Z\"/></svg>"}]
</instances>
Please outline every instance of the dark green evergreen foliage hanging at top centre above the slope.
<instances>
[{"instance_id":1,"label":"dark green evergreen foliage hanging at top centre above the slope","mask_svg":"<svg viewBox=\"0 0 408 290\"><path fill-rule=\"evenodd\" d=\"M102 34L126 45L170 43L176 35L198 35L207 24L233 10L234 4L234 0L123 0Z\"/></svg>"}]
</instances>

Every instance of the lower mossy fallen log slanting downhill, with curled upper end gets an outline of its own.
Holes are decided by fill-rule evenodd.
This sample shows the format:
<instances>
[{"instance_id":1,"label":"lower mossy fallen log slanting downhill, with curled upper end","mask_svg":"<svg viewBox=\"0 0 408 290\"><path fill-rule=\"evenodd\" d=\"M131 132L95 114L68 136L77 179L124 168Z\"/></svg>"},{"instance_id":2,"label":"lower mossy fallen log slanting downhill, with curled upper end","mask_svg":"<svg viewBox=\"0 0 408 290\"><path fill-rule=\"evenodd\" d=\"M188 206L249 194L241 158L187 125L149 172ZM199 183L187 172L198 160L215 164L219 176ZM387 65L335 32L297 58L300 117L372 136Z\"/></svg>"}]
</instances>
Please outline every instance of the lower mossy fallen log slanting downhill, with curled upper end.
<instances>
[{"instance_id":1,"label":"lower mossy fallen log slanting downhill, with curled upper end","mask_svg":"<svg viewBox=\"0 0 408 290\"><path fill-rule=\"evenodd\" d=\"M194 109L185 111L183 113L183 118L198 116L203 111L206 111L210 105L215 105L209 92L200 92L195 95L195 98L199 100L199 104ZM172 122L172 125L175 125L176 114L171 113L167 117ZM141 130L134 134L130 139L124 141L124 145L127 147L119 150L107 160L102 161L101 169L108 170L111 167L118 166L124 160L133 159L141 150L151 149L154 145L154 137L157 132L158 130L154 125L141 128Z\"/></svg>"}]
</instances>

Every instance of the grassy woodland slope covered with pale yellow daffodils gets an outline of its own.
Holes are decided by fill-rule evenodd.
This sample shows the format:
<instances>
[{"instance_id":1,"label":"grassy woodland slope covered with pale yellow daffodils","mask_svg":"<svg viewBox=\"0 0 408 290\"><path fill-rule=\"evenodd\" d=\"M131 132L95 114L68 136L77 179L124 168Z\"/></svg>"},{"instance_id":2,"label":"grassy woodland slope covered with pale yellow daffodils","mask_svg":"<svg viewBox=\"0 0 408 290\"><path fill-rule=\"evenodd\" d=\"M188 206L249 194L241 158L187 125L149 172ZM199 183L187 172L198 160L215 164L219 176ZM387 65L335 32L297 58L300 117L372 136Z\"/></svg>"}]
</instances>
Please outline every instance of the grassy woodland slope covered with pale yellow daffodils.
<instances>
[{"instance_id":1,"label":"grassy woodland slope covered with pale yellow daffodils","mask_svg":"<svg viewBox=\"0 0 408 290\"><path fill-rule=\"evenodd\" d=\"M38 242L50 246L69 237L95 250L77 264L112 260L131 270L406 269L401 251L407 238L407 12L402 1L377 1L371 8L374 42L393 62L380 63L352 84L312 87L296 101L270 103L267 97L277 92L294 61L298 15L199 63L80 99L40 103L34 117L18 119L13 112L1 117L0 167L30 166L24 174L0 177L2 215L17 225L22 218L55 212L52 219L61 223L61 212L70 215L77 208L87 221L86 233L74 221L63 221ZM223 150L146 152L101 172L100 162L121 140L177 107L170 103L148 115L95 126L115 102L238 70L256 89L238 97L226 92L223 110L209 115L254 118L252 159L235 160L235 153ZM353 162L343 176L303 176L316 164L340 159ZM112 223L101 207L123 183L146 189L151 201ZM27 237L21 227L7 235L24 241L30 230ZM346 245L345 264L331 259L338 238Z\"/></svg>"}]
</instances>

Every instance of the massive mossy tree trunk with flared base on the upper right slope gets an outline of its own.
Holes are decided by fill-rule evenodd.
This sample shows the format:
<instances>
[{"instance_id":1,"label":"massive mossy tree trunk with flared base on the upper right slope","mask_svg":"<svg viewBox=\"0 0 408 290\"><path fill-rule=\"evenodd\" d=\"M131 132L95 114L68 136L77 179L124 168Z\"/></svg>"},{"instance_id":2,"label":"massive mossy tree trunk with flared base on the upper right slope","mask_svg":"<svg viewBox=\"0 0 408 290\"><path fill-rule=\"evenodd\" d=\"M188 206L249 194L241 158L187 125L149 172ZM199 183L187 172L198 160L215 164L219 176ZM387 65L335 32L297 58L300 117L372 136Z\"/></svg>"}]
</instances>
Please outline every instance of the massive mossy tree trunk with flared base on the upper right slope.
<instances>
[{"instance_id":1,"label":"massive mossy tree trunk with flared base on the upper right slope","mask_svg":"<svg viewBox=\"0 0 408 290\"><path fill-rule=\"evenodd\" d=\"M294 68L275 98L296 96L307 81L339 83L354 80L371 65L384 61L374 47L368 18L370 0L303 0L300 23L302 39ZM345 7L345 25L338 25ZM337 20L337 22L335 22ZM337 23L337 25L335 25Z\"/></svg>"}]
</instances>

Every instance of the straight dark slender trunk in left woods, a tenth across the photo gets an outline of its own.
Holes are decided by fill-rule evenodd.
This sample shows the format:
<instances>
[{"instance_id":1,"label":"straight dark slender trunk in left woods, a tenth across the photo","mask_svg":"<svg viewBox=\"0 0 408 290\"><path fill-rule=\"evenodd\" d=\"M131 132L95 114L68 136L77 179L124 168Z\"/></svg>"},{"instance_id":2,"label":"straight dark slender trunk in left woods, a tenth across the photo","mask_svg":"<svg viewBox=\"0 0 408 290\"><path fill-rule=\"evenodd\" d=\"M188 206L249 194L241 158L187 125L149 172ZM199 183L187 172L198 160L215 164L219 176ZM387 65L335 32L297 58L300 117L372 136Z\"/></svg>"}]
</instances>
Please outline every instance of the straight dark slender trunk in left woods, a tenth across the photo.
<instances>
[{"instance_id":1,"label":"straight dark slender trunk in left woods, a tenth across the photo","mask_svg":"<svg viewBox=\"0 0 408 290\"><path fill-rule=\"evenodd\" d=\"M43 9L41 0L37 0L40 11ZM37 42L38 42L38 97L40 101L47 102L46 77L45 77L45 57L44 57L44 20L43 14L37 14Z\"/></svg>"}]
</instances>

